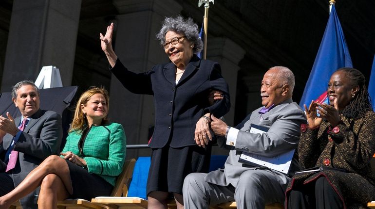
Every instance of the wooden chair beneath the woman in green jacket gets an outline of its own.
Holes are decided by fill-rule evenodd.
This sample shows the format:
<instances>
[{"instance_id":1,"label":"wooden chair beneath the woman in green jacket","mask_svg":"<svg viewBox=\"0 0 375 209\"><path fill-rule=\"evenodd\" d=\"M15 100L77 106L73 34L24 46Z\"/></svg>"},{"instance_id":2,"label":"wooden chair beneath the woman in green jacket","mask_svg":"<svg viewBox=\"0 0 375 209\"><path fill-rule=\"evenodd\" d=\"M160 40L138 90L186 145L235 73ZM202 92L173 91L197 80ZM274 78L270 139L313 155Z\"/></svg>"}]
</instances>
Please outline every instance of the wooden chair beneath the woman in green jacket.
<instances>
[{"instance_id":1,"label":"wooden chair beneath the woman in green jacket","mask_svg":"<svg viewBox=\"0 0 375 209\"><path fill-rule=\"evenodd\" d=\"M120 197L124 191L127 194L130 179L133 175L135 159L127 160L124 163L121 174L117 177L116 184L113 187L111 197ZM67 199L57 202L58 209L112 209L98 203L92 203L84 199Z\"/></svg>"}]
</instances>

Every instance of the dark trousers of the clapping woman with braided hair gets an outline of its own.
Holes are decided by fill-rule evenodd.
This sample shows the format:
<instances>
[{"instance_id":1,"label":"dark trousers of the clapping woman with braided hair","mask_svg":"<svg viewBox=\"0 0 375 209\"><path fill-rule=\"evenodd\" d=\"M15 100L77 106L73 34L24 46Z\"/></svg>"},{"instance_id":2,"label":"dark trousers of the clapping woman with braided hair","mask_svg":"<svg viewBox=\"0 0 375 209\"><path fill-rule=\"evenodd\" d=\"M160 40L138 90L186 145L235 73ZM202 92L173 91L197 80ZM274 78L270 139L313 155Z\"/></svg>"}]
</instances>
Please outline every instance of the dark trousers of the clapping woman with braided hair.
<instances>
[{"instance_id":1,"label":"dark trousers of the clapping woman with braided hair","mask_svg":"<svg viewBox=\"0 0 375 209\"><path fill-rule=\"evenodd\" d=\"M343 202L325 177L290 191L288 209L342 209Z\"/></svg>"}]
</instances>

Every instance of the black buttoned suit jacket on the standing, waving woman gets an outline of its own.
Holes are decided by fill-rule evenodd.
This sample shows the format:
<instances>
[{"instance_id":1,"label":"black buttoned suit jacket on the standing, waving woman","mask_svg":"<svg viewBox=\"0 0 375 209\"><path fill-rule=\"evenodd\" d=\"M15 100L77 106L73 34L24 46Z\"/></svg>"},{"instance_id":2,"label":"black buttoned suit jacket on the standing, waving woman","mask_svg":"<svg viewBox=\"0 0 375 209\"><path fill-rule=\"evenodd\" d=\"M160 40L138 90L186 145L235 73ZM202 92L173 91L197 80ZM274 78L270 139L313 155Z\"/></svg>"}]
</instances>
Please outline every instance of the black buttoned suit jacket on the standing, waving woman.
<instances>
[{"instance_id":1,"label":"black buttoned suit jacket on the standing, waving woman","mask_svg":"<svg viewBox=\"0 0 375 209\"><path fill-rule=\"evenodd\" d=\"M153 95L155 129L151 148L164 147L168 142L171 147L196 145L194 131L199 118L208 112L221 117L230 108L228 85L218 63L200 60L194 55L177 85L175 69L173 63L158 64L148 72L136 74L120 60L111 69L132 93ZM223 100L212 106L208 103L211 89L220 90L224 95Z\"/></svg>"}]
</instances>

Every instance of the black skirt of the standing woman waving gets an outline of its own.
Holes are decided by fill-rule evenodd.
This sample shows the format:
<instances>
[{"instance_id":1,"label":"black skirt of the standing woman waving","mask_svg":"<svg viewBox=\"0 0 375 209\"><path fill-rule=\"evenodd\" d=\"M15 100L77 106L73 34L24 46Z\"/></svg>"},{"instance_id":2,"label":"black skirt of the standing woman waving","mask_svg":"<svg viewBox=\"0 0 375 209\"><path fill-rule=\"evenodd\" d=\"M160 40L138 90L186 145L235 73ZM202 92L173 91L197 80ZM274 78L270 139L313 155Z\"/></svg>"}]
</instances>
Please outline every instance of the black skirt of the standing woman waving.
<instances>
[{"instance_id":1,"label":"black skirt of the standing woman waving","mask_svg":"<svg viewBox=\"0 0 375 209\"><path fill-rule=\"evenodd\" d=\"M182 194L184 178L190 173L207 173L211 158L211 146L206 148L169 145L152 149L147 195L153 191Z\"/></svg>"}]
</instances>

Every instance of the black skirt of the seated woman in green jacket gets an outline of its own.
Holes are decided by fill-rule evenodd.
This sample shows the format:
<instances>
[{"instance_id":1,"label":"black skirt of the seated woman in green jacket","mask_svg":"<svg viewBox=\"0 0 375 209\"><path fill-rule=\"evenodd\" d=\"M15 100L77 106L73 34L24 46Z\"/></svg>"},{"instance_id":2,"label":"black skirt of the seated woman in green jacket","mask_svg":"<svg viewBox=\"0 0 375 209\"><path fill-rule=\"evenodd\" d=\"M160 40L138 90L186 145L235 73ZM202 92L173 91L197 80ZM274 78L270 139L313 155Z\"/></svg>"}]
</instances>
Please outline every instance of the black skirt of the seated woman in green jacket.
<instances>
[{"instance_id":1,"label":"black skirt of the seated woman in green jacket","mask_svg":"<svg viewBox=\"0 0 375 209\"><path fill-rule=\"evenodd\" d=\"M73 194L69 198L81 198L91 201L97 196L109 196L113 186L102 177L90 174L88 170L66 160L69 167Z\"/></svg>"}]
</instances>

